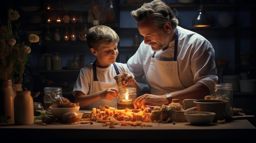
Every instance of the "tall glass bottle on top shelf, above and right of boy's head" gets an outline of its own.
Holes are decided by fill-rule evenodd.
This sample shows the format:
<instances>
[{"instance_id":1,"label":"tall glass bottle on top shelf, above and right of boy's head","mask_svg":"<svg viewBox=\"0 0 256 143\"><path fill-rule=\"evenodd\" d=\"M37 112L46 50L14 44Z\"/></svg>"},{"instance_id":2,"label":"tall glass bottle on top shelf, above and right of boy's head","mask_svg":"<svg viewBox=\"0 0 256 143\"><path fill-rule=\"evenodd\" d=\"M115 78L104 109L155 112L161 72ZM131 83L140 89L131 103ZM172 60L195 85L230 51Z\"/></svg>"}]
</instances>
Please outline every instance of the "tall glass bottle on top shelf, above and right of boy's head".
<instances>
[{"instance_id":1,"label":"tall glass bottle on top shelf, above and right of boy's head","mask_svg":"<svg viewBox=\"0 0 256 143\"><path fill-rule=\"evenodd\" d=\"M115 22L115 10L113 6L113 1L109 0L104 9L104 18L105 23L114 23Z\"/></svg>"}]
</instances>

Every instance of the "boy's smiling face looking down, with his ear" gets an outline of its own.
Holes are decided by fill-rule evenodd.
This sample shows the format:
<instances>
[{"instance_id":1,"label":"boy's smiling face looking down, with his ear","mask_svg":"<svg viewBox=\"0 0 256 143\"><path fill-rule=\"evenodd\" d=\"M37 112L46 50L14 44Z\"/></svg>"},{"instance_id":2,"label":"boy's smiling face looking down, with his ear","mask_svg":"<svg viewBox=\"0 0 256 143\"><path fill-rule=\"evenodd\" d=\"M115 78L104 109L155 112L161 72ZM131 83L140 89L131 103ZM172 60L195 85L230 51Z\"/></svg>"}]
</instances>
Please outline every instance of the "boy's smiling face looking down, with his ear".
<instances>
[{"instance_id":1,"label":"boy's smiling face looking down, with his ear","mask_svg":"<svg viewBox=\"0 0 256 143\"><path fill-rule=\"evenodd\" d=\"M117 44L101 44L97 51L94 48L90 49L97 58L97 66L101 68L107 68L110 64L115 63L119 53Z\"/></svg>"}]
</instances>

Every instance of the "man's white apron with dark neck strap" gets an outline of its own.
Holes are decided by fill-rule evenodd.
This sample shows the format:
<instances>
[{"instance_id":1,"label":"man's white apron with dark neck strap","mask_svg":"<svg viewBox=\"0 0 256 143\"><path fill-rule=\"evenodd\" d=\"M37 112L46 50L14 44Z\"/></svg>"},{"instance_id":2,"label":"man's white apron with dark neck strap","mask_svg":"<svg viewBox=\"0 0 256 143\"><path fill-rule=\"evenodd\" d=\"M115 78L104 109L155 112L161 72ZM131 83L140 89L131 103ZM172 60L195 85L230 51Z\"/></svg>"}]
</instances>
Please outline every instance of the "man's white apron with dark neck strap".
<instances>
[{"instance_id":1,"label":"man's white apron with dark neck strap","mask_svg":"<svg viewBox=\"0 0 256 143\"><path fill-rule=\"evenodd\" d=\"M178 32L175 28L175 46L173 61L160 61L155 59L155 53L151 57L146 79L153 95L164 95L177 90L185 89L182 86L177 62Z\"/></svg>"}]
</instances>

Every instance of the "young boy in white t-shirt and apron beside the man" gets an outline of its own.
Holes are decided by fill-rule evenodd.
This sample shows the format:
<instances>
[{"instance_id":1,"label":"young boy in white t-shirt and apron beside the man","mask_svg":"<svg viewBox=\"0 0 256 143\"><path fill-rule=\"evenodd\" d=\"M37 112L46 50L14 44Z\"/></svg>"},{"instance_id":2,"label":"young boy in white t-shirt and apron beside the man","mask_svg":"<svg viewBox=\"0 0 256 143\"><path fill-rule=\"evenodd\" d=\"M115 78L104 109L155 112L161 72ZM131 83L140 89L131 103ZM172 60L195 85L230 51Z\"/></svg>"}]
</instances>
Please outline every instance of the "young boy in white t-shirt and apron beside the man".
<instances>
[{"instance_id":1,"label":"young boy in white t-shirt and apron beside the man","mask_svg":"<svg viewBox=\"0 0 256 143\"><path fill-rule=\"evenodd\" d=\"M81 68L73 89L74 102L81 107L97 108L108 105L117 108L119 91L115 76L121 74L123 84L140 87L126 64L117 63L119 36L108 26L98 25L89 29L87 43L96 60Z\"/></svg>"}]
</instances>

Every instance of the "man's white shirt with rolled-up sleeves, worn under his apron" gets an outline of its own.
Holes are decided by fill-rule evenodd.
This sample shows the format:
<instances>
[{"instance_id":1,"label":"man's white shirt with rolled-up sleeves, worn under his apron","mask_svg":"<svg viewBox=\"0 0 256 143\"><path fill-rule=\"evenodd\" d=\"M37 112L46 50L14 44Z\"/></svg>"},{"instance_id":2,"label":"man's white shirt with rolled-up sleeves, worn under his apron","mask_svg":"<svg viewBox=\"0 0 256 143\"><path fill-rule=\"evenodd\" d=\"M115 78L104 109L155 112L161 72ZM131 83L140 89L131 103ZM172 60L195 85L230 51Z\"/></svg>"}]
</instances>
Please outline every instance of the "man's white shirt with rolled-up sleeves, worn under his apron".
<instances>
[{"instance_id":1,"label":"man's white shirt with rolled-up sleeves, worn under his apron","mask_svg":"<svg viewBox=\"0 0 256 143\"><path fill-rule=\"evenodd\" d=\"M214 90L214 84L218 82L215 64L215 51L211 43L202 35L177 26L178 48L177 63L180 83L188 88L195 83L206 85L210 92ZM162 61L173 61L174 41L169 44L165 51L157 51L155 59ZM154 51L151 46L141 42L136 53L127 62L130 72L135 76L137 82L148 84L145 75L148 73L151 57ZM152 75L154 78L154 75ZM166 77L171 81L172 75ZM158 79L155 79L158 80ZM171 91L173 92L173 91Z\"/></svg>"}]
</instances>

